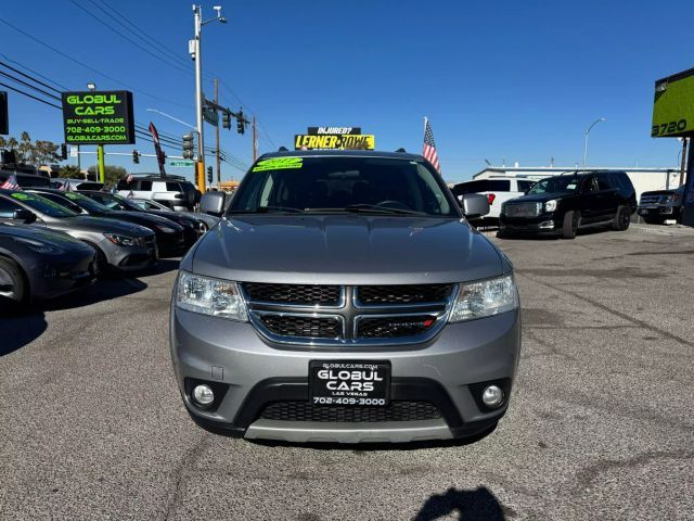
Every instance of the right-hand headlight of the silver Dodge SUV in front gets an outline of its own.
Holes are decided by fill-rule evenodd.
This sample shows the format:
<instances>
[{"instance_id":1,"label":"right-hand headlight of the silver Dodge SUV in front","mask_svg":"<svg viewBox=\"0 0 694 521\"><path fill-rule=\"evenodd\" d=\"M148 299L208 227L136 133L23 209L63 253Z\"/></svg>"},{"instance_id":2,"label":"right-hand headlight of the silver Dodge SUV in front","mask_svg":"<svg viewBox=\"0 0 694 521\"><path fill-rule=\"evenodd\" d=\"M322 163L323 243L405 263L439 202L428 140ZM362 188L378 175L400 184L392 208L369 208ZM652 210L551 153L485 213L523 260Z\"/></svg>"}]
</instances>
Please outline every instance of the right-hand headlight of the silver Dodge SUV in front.
<instances>
[{"instance_id":1,"label":"right-hand headlight of the silver Dodge SUV in front","mask_svg":"<svg viewBox=\"0 0 694 521\"><path fill-rule=\"evenodd\" d=\"M518 292L513 275L477 282L463 282L458 290L449 322L473 320L518 307Z\"/></svg>"}]
</instances>

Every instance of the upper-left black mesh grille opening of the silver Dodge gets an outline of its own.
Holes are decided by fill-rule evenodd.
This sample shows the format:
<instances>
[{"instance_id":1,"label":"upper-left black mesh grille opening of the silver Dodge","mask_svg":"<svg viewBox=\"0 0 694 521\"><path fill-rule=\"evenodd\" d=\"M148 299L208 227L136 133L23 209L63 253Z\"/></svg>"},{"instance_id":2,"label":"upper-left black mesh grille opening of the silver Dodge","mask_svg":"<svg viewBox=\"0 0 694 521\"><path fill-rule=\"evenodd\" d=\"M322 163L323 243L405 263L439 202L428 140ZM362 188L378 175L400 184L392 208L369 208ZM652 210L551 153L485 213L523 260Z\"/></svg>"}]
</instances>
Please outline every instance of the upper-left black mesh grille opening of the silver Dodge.
<instances>
[{"instance_id":1,"label":"upper-left black mesh grille opening of the silver Dodge","mask_svg":"<svg viewBox=\"0 0 694 521\"><path fill-rule=\"evenodd\" d=\"M340 296L339 285L246 282L243 289L252 301L303 306L336 306Z\"/></svg>"}]
</instances>

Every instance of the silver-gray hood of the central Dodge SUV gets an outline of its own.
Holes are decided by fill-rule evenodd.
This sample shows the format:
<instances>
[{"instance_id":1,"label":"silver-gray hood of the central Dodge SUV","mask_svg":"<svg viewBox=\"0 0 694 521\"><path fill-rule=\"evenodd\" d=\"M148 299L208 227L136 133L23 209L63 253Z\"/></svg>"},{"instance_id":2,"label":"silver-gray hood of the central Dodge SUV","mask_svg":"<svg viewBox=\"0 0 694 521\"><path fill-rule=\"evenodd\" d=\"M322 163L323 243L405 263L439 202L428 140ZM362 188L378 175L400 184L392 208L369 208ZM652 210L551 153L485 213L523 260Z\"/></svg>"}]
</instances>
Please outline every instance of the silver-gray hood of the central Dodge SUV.
<instances>
[{"instance_id":1,"label":"silver-gray hood of the central Dodge SUV","mask_svg":"<svg viewBox=\"0 0 694 521\"><path fill-rule=\"evenodd\" d=\"M506 266L463 219L361 215L222 219L181 263L220 279L311 284L459 282Z\"/></svg>"}]
</instances>

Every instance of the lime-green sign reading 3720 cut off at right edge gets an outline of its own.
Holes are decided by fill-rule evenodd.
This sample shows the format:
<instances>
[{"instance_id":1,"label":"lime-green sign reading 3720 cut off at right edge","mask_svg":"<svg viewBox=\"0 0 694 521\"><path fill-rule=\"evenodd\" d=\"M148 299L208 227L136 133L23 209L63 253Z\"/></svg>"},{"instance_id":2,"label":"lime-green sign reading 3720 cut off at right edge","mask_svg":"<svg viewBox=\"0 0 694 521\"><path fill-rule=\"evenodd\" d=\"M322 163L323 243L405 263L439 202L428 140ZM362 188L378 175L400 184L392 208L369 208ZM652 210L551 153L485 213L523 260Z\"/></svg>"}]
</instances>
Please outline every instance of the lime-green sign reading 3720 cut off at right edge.
<instances>
[{"instance_id":1,"label":"lime-green sign reading 3720 cut off at right edge","mask_svg":"<svg viewBox=\"0 0 694 521\"><path fill-rule=\"evenodd\" d=\"M655 82L653 100L654 138L694 135L694 68Z\"/></svg>"}]
</instances>

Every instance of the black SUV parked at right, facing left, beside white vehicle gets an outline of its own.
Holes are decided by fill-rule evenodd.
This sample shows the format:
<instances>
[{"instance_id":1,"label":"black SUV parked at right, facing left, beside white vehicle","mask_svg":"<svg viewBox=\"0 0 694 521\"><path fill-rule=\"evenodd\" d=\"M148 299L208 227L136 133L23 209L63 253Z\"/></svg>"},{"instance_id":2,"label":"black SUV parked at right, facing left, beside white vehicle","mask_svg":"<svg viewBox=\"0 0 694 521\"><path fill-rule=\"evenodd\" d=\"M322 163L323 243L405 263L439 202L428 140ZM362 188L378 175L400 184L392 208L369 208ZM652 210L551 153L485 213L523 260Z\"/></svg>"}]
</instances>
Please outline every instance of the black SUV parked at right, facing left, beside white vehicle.
<instances>
[{"instance_id":1,"label":"black SUV parked at right, facing left, beside white vehicle","mask_svg":"<svg viewBox=\"0 0 694 521\"><path fill-rule=\"evenodd\" d=\"M499 229L574 239L590 226L626 230L635 209L637 194L625 171L573 171L542 179L526 195L504 203Z\"/></svg>"}]
</instances>

